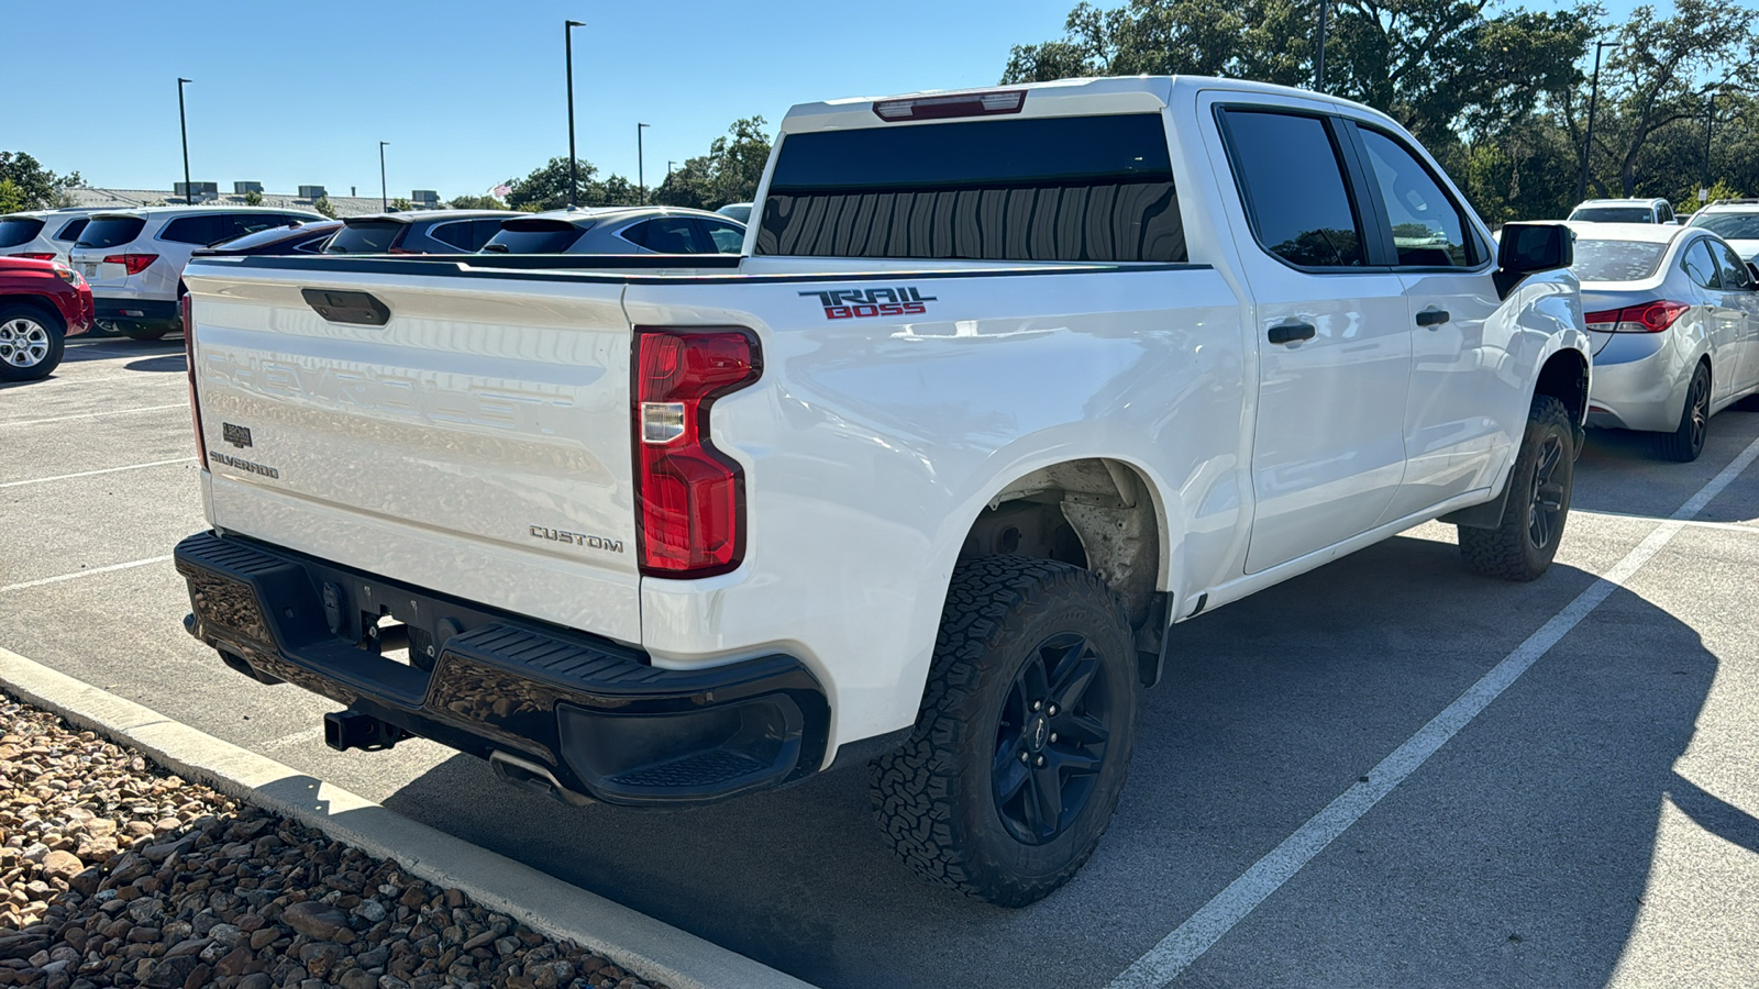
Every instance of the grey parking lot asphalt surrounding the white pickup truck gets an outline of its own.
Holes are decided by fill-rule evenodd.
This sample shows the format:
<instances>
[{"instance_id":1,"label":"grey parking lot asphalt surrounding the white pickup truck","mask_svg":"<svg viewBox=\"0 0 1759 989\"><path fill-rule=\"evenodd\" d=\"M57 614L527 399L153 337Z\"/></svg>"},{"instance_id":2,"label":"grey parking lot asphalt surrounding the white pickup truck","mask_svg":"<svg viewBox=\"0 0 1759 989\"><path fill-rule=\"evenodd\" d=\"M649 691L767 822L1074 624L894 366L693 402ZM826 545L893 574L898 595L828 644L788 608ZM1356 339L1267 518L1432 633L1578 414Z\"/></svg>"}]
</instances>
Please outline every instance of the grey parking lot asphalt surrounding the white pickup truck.
<instances>
[{"instance_id":1,"label":"grey parking lot asphalt surrounding the white pickup truck","mask_svg":"<svg viewBox=\"0 0 1759 989\"><path fill-rule=\"evenodd\" d=\"M1427 524L1180 625L1098 853L1001 910L897 864L860 773L626 811L528 795L420 739L329 751L329 702L255 685L181 628L167 554L204 528L183 382L178 340L93 340L0 389L0 646L800 978L1106 985L1247 875L1275 875L1261 903L1150 984L1759 978L1759 466L1666 523L1759 442L1755 414L1713 419L1690 465L1590 433L1562 551L1532 584L1471 575L1453 528ZM1597 604L1569 612L1585 591ZM1530 669L1288 857L1560 612L1578 621Z\"/></svg>"}]
</instances>

